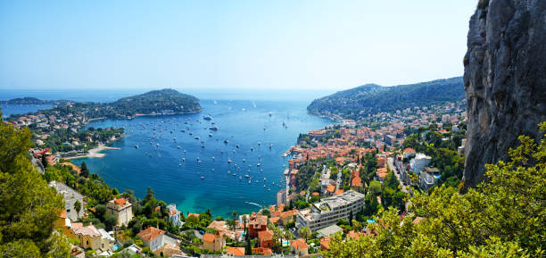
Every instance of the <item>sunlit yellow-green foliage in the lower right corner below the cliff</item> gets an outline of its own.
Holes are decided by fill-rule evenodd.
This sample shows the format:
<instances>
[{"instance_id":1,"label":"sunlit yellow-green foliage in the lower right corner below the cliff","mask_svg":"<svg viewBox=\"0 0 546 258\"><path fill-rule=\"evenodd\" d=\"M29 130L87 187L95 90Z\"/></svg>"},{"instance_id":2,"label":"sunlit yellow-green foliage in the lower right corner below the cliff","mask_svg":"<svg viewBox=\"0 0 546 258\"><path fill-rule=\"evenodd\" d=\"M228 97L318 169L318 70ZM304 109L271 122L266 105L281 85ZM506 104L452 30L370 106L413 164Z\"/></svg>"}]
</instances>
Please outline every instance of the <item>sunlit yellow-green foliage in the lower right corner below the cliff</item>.
<instances>
[{"instance_id":1,"label":"sunlit yellow-green foliage in the lower right corner below the cliff","mask_svg":"<svg viewBox=\"0 0 546 258\"><path fill-rule=\"evenodd\" d=\"M546 131L546 122L541 124ZM546 238L546 137L519 137L509 159L486 165L485 179L461 193L436 187L416 193L401 217L391 207L371 225L375 237L332 237L324 256L543 257ZM424 220L414 222L419 216Z\"/></svg>"}]
</instances>

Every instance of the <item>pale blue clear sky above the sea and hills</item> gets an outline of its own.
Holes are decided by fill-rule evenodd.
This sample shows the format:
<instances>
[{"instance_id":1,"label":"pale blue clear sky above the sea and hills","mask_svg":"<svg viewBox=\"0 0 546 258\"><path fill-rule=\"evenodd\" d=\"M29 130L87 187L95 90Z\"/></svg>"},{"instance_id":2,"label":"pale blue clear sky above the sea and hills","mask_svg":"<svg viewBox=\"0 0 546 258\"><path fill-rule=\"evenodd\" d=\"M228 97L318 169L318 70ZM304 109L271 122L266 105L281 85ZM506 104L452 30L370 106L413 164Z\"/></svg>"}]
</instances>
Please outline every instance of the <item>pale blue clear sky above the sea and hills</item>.
<instances>
[{"instance_id":1,"label":"pale blue clear sky above the sea and hills","mask_svg":"<svg viewBox=\"0 0 546 258\"><path fill-rule=\"evenodd\" d=\"M0 1L0 89L337 91L463 74L476 0Z\"/></svg>"}]
</instances>

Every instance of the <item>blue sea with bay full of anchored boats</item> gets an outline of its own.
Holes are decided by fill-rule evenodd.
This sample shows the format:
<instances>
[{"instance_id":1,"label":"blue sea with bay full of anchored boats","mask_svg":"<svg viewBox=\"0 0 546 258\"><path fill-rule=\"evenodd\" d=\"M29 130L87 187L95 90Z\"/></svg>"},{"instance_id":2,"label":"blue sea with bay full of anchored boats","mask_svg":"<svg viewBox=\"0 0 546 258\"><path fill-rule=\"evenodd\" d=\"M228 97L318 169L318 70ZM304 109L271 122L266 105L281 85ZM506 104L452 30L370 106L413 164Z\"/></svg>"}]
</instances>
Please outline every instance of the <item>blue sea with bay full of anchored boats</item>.
<instances>
[{"instance_id":1,"label":"blue sea with bay full of anchored boats","mask_svg":"<svg viewBox=\"0 0 546 258\"><path fill-rule=\"evenodd\" d=\"M276 204L290 159L282 155L300 133L334 122L306 112L312 99L327 92L178 90L200 98L203 112L93 121L87 127L125 129L125 137L111 145L120 149L74 162L86 162L120 192L131 189L142 198L151 187L157 199L177 204L184 213L210 209L213 216L227 217L234 210L248 213ZM0 100L36 96L111 102L144 92L0 89ZM4 116L44 108L48 106L2 105Z\"/></svg>"}]
</instances>

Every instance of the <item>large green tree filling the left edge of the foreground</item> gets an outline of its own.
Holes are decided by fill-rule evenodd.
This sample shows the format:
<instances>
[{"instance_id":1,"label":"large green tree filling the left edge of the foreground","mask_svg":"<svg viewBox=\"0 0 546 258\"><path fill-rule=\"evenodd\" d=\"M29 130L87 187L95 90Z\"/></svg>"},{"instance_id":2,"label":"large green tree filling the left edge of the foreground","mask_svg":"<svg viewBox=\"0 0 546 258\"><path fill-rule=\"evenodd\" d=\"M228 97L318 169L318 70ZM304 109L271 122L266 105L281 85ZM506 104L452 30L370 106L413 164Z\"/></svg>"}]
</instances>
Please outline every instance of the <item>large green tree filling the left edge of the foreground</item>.
<instances>
[{"instance_id":1,"label":"large green tree filling the left edge of the foreground","mask_svg":"<svg viewBox=\"0 0 546 258\"><path fill-rule=\"evenodd\" d=\"M0 256L47 256L54 221L64 205L27 158L28 128L4 124L0 112ZM59 248L65 243L58 242ZM64 248L66 246L62 246ZM56 248L56 247L55 247ZM55 253L58 254L58 253ZM61 255L65 256L65 255ZM68 257L68 256L65 256Z\"/></svg>"}]
</instances>

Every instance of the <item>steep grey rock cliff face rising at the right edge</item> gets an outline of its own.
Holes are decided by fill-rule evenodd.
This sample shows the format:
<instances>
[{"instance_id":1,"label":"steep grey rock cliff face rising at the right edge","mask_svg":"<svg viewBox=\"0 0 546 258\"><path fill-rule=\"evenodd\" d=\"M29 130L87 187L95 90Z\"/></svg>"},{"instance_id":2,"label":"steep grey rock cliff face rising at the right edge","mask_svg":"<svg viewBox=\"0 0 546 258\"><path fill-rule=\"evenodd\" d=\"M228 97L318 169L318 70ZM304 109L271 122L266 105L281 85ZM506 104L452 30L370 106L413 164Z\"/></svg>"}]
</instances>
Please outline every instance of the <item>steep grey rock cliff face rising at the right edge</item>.
<instances>
[{"instance_id":1,"label":"steep grey rock cliff face rising at the right edge","mask_svg":"<svg viewBox=\"0 0 546 258\"><path fill-rule=\"evenodd\" d=\"M538 139L546 121L546 1L480 0L465 55L467 146L463 182L508 157L519 135Z\"/></svg>"}]
</instances>

